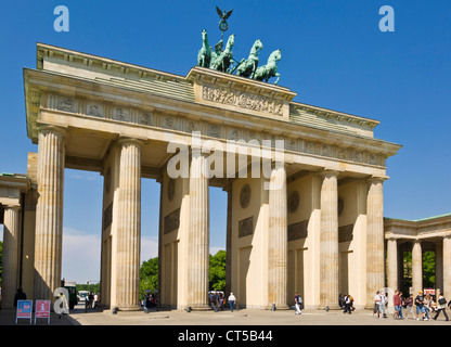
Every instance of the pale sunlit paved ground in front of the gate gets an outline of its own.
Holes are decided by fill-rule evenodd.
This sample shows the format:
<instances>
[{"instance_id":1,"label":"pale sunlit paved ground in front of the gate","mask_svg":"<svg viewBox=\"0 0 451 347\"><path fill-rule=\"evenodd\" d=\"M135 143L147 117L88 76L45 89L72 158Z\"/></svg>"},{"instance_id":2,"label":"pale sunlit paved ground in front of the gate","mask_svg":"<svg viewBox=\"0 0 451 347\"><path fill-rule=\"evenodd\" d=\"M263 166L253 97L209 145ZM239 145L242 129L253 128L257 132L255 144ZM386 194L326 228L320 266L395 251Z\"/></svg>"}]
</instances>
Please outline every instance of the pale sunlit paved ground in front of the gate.
<instances>
[{"instance_id":1,"label":"pale sunlit paved ground in front of the gate","mask_svg":"<svg viewBox=\"0 0 451 347\"><path fill-rule=\"evenodd\" d=\"M448 312L450 314L450 312ZM0 310L0 325L15 325L15 311ZM17 325L29 325L29 321L20 320ZM40 319L37 325L47 325L47 320ZM300 316L296 316L294 310L235 310L227 311L177 311L177 310L151 310L144 311L117 312L113 314L111 310L88 310L77 306L68 316L61 319L57 314L51 314L50 325L390 325L390 326L431 326L448 325L450 321L444 321L441 313L437 321L395 320L390 314L388 318L373 318L371 311L357 310L352 314L342 311L318 311L304 310Z\"/></svg>"}]
</instances>

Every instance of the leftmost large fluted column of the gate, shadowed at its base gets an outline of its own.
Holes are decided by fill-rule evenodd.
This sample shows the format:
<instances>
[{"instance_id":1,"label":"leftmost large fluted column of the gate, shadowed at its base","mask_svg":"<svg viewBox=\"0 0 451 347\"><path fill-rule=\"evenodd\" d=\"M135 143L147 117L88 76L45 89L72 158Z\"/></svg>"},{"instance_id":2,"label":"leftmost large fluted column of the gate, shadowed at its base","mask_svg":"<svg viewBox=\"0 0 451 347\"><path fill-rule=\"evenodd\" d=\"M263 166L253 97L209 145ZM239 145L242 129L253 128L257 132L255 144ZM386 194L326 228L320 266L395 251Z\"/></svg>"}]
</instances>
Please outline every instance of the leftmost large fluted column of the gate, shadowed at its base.
<instances>
[{"instance_id":1,"label":"leftmost large fluted column of the gate, shadowed at its base","mask_svg":"<svg viewBox=\"0 0 451 347\"><path fill-rule=\"evenodd\" d=\"M65 130L41 127L38 143L34 298L51 300L62 280Z\"/></svg>"}]
</instances>

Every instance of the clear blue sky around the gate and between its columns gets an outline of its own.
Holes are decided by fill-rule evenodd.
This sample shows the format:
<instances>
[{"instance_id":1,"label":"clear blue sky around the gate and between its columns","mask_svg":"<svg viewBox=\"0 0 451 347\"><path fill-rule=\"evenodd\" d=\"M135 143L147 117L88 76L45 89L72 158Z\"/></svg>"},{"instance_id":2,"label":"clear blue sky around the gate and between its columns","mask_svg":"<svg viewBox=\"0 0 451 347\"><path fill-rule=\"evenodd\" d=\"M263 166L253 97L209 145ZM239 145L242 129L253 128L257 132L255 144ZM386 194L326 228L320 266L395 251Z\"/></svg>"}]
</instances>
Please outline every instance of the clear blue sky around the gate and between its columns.
<instances>
[{"instance_id":1,"label":"clear blue sky around the gate and between its columns","mask_svg":"<svg viewBox=\"0 0 451 347\"><path fill-rule=\"evenodd\" d=\"M68 33L53 28L60 4L69 10ZM26 172L27 152L37 151L26 136L22 70L36 67L36 42L184 76L196 64L201 30L207 29L210 42L220 38L216 4L234 10L226 37L235 35L236 60L247 57L257 38L265 46L261 61L280 48L279 83L297 92L295 101L377 119L375 137L403 145L387 163L386 217L451 213L447 0L3 1L0 172ZM379 30L383 5L395 10L395 33ZM96 280L103 178L77 170L65 175L63 275ZM156 255L159 185L145 179L142 184L146 259ZM217 249L226 244L227 195L212 189L210 197Z\"/></svg>"}]
</instances>

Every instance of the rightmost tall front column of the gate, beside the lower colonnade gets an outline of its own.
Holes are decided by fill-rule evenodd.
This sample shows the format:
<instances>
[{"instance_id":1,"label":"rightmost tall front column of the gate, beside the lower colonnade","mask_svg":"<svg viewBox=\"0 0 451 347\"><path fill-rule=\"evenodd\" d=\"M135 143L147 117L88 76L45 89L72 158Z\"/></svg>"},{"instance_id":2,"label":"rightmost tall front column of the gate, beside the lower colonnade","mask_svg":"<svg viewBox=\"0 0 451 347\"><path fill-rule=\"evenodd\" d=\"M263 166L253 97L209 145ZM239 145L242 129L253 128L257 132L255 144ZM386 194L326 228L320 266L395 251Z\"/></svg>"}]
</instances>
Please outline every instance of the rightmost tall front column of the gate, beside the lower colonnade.
<instances>
[{"instance_id":1,"label":"rightmost tall front column of the gate, beside the lower colonnade","mask_svg":"<svg viewBox=\"0 0 451 347\"><path fill-rule=\"evenodd\" d=\"M383 178L369 180L366 196L366 308L385 287Z\"/></svg>"}]
</instances>

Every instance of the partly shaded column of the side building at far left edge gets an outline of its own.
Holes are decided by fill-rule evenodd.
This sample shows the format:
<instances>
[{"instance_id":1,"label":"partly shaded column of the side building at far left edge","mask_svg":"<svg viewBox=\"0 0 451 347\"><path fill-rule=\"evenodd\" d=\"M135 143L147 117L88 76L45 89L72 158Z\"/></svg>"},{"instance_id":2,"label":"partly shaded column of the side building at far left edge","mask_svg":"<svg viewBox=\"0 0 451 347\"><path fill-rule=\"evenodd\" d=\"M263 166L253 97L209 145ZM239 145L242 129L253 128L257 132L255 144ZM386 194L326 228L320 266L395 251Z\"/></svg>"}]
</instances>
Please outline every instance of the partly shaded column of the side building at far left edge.
<instances>
[{"instance_id":1,"label":"partly shaded column of the side building at far left edge","mask_svg":"<svg viewBox=\"0 0 451 347\"><path fill-rule=\"evenodd\" d=\"M18 271L18 216L21 206L4 206L3 273L1 280L2 307L13 308L17 291Z\"/></svg>"}]
</instances>

